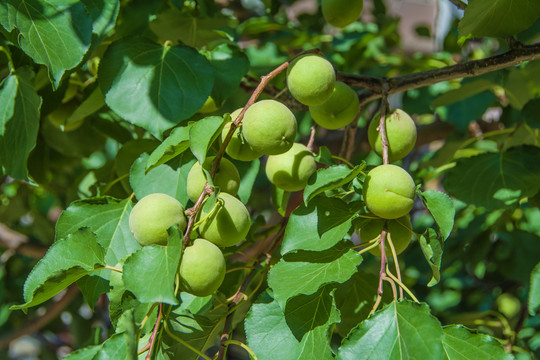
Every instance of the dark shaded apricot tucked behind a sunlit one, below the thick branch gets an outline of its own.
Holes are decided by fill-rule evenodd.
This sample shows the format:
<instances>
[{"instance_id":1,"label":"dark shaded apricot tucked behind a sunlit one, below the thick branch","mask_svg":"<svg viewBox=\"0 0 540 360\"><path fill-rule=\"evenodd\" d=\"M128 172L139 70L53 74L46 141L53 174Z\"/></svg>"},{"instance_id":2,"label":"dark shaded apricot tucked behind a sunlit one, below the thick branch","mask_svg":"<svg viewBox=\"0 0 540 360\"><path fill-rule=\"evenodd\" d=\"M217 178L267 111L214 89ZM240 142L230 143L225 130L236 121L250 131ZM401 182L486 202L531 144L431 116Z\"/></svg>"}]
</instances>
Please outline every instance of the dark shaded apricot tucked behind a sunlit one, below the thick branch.
<instances>
[{"instance_id":1,"label":"dark shaded apricot tucked behind a sunlit one, below the thick branch","mask_svg":"<svg viewBox=\"0 0 540 360\"><path fill-rule=\"evenodd\" d=\"M321 105L310 106L309 112L317 124L325 129L335 130L352 122L359 108L356 92L347 84L338 81L330 98Z\"/></svg>"}]
</instances>

